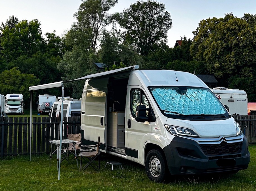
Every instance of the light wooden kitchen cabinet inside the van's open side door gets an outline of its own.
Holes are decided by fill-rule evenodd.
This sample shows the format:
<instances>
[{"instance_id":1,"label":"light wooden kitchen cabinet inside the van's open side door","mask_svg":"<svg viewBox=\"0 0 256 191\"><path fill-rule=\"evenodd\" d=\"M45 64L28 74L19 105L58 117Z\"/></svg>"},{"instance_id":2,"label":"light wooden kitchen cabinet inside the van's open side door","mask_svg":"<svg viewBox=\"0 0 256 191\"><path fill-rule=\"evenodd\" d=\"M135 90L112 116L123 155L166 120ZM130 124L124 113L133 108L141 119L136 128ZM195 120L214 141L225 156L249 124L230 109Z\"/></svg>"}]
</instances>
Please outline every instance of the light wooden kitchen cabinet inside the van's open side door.
<instances>
[{"instance_id":1,"label":"light wooden kitchen cabinet inside the van's open side door","mask_svg":"<svg viewBox=\"0 0 256 191\"><path fill-rule=\"evenodd\" d=\"M107 115L107 146L124 147L124 112L109 112Z\"/></svg>"}]
</instances>

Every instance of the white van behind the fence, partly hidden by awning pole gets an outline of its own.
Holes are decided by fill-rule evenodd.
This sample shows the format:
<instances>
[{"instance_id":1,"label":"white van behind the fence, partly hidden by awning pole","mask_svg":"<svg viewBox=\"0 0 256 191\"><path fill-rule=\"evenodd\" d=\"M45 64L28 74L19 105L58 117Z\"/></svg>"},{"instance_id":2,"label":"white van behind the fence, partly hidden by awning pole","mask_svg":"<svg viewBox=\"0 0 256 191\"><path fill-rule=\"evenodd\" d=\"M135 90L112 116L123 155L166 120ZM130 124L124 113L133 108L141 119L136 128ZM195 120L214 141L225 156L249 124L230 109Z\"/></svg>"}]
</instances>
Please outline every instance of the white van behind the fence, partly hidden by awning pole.
<instances>
[{"instance_id":1,"label":"white van behind the fence, partly hidden by awning pole","mask_svg":"<svg viewBox=\"0 0 256 191\"><path fill-rule=\"evenodd\" d=\"M60 117L61 101L55 101L51 107L49 117ZM81 116L81 100L73 98L64 98L63 100L63 117Z\"/></svg>"}]
</instances>

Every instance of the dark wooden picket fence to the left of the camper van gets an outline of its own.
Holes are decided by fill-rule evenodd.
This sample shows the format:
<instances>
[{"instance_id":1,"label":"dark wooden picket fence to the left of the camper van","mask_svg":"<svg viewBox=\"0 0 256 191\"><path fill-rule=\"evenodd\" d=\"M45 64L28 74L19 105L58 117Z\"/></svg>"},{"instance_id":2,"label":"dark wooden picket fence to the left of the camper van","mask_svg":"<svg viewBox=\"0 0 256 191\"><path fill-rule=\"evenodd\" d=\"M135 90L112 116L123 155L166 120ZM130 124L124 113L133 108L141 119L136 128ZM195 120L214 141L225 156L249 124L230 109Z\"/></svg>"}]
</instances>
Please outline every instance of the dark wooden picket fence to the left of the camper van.
<instances>
[{"instance_id":1,"label":"dark wooden picket fence to the left of the camper van","mask_svg":"<svg viewBox=\"0 0 256 191\"><path fill-rule=\"evenodd\" d=\"M64 117L63 139L68 133L80 133L80 117ZM59 117L33 117L31 152L50 152L49 140L58 140L60 132ZM30 152L30 118L0 118L1 157Z\"/></svg>"}]
</instances>

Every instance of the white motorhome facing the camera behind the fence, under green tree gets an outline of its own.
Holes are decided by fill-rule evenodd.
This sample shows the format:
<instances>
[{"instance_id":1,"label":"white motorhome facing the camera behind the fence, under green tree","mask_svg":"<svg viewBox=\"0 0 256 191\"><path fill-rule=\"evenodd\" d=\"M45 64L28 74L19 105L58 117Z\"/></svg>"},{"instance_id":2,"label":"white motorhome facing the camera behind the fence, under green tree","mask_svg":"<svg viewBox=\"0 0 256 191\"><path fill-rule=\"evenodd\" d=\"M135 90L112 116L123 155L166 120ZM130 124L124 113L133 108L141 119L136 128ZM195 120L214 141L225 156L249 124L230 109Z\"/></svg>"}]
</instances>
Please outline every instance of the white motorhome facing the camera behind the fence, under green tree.
<instances>
[{"instance_id":1,"label":"white motorhome facing the camera behind the fence, under green tree","mask_svg":"<svg viewBox=\"0 0 256 191\"><path fill-rule=\"evenodd\" d=\"M23 95L22 94L6 94L6 104L5 104L5 113L16 113L22 114L23 113Z\"/></svg>"}]
</instances>

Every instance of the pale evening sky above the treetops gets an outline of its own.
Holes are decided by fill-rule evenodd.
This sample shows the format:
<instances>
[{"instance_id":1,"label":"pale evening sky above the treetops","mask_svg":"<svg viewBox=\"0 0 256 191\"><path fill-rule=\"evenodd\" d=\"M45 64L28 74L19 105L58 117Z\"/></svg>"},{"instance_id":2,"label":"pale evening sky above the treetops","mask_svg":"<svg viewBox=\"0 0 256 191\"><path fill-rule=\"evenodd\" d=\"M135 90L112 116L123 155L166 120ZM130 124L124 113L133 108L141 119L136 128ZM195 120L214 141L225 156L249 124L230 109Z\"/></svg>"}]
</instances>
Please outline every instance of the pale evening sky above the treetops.
<instances>
[{"instance_id":1,"label":"pale evening sky above the treetops","mask_svg":"<svg viewBox=\"0 0 256 191\"><path fill-rule=\"evenodd\" d=\"M171 15L172 27L168 31L168 45L174 47L176 40L186 36L193 39L201 20L207 18L225 17L232 12L236 17L244 13L256 14L256 0L157 0L165 5ZM11 15L19 21L38 19L43 35L53 32L62 36L75 22L73 14L77 12L81 0L0 0L0 23ZM136 0L119 0L110 9L110 13L122 12Z\"/></svg>"}]
</instances>

